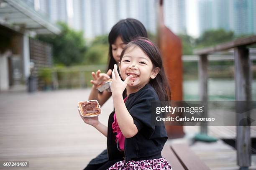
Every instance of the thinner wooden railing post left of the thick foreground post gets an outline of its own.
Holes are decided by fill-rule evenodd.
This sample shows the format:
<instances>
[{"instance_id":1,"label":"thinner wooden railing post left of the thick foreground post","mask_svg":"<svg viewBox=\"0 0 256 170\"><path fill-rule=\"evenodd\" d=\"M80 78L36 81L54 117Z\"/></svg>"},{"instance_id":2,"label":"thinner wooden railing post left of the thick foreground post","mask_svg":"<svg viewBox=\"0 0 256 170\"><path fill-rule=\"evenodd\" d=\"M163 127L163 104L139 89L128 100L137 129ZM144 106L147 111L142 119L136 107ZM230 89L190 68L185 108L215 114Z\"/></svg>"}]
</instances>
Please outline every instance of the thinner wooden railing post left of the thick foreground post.
<instances>
[{"instance_id":1,"label":"thinner wooden railing post left of the thick foreground post","mask_svg":"<svg viewBox=\"0 0 256 170\"><path fill-rule=\"evenodd\" d=\"M207 60L207 54L200 55L199 61L198 61L198 75L199 75L199 95L200 100L203 102L204 105L204 112L202 113L202 117L207 117L208 107L207 107L207 101L208 101L208 74L207 74L207 66L208 66L208 60ZM201 134L207 134L207 122L201 123L200 126L200 133Z\"/></svg>"}]
</instances>

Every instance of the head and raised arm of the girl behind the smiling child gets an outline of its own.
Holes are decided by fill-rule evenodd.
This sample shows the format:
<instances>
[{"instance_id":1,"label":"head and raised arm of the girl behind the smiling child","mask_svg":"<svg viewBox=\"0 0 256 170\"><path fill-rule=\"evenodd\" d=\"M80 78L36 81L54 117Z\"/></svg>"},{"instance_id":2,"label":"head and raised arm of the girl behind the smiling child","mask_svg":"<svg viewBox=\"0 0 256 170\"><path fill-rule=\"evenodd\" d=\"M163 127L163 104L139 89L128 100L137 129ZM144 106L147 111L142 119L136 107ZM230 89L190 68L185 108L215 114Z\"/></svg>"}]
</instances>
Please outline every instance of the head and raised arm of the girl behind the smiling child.
<instances>
[{"instance_id":1,"label":"head and raised arm of the girl behind the smiling child","mask_svg":"<svg viewBox=\"0 0 256 170\"><path fill-rule=\"evenodd\" d=\"M111 96L111 92L103 91L99 93L96 87L102 84L104 81L110 79L111 72L114 68L114 64L120 61L120 54L123 48L128 44L131 39L135 37L145 37L147 38L146 28L143 24L132 18L127 18L120 20L111 29L108 35L109 43L109 61L108 61L108 71L107 73L101 73L100 70L96 73L92 72L93 80L91 80L92 91L89 96L89 100L95 99L102 106Z\"/></svg>"}]
</instances>

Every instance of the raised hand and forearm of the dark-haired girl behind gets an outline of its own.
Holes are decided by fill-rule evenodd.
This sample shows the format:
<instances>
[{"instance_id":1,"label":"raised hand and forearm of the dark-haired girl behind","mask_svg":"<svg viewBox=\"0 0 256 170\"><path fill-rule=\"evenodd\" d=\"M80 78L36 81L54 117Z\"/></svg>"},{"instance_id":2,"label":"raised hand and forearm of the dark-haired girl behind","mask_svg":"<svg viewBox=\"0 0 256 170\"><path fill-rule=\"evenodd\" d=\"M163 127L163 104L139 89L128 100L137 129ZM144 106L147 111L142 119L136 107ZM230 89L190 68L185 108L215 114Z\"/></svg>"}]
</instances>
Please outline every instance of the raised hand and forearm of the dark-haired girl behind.
<instances>
[{"instance_id":1,"label":"raised hand and forearm of the dark-haired girl behind","mask_svg":"<svg viewBox=\"0 0 256 170\"><path fill-rule=\"evenodd\" d=\"M110 98L111 93L108 91L103 91L102 94L100 94L96 87L110 78L111 71L112 70L109 69L106 74L100 73L100 70L98 70L96 74L92 72L93 80L91 80L91 83L93 84L93 86L89 96L89 100L97 100L100 106L102 106Z\"/></svg>"}]
</instances>

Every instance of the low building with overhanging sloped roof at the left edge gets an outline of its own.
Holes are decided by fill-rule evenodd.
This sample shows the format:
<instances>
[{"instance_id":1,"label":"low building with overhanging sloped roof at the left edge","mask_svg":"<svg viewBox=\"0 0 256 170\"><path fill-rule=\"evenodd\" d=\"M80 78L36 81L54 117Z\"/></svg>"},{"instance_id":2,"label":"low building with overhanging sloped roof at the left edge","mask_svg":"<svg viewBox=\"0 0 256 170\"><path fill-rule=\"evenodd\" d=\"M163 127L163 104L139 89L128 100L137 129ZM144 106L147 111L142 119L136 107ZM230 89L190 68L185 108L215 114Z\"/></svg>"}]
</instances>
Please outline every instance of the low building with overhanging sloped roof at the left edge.
<instances>
[{"instance_id":1,"label":"low building with overhanging sloped roof at the left edge","mask_svg":"<svg viewBox=\"0 0 256 170\"><path fill-rule=\"evenodd\" d=\"M31 66L51 66L51 46L31 37L61 30L36 9L36 0L0 0L0 91L27 84Z\"/></svg>"}]
</instances>

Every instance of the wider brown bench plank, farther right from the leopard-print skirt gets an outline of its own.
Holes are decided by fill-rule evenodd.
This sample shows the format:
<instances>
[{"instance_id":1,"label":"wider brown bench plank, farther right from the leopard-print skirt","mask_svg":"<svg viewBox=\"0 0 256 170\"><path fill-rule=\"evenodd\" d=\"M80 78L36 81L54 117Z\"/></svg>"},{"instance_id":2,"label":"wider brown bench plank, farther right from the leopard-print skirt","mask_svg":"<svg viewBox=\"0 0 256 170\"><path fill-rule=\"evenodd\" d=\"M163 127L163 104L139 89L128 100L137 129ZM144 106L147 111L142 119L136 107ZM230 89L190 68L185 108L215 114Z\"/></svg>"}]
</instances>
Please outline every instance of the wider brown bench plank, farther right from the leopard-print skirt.
<instances>
[{"instance_id":1,"label":"wider brown bench plank, farther right from the leopard-print skirt","mask_svg":"<svg viewBox=\"0 0 256 170\"><path fill-rule=\"evenodd\" d=\"M189 149L187 144L172 144L171 148L179 161L182 162L185 170L210 170L210 168Z\"/></svg>"}]
</instances>

